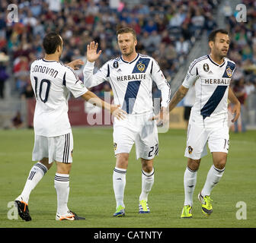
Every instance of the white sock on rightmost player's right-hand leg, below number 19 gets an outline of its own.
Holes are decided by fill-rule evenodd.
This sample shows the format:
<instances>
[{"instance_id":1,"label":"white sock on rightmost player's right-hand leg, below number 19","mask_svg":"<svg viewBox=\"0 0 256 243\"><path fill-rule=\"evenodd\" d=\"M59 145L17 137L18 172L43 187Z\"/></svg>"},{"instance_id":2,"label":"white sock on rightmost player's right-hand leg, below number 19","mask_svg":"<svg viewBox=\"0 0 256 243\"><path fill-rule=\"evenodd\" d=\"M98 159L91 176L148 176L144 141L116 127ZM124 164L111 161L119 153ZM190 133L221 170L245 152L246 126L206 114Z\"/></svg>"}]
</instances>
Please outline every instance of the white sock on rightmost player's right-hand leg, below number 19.
<instances>
[{"instance_id":1,"label":"white sock on rightmost player's right-hand leg, below number 19","mask_svg":"<svg viewBox=\"0 0 256 243\"><path fill-rule=\"evenodd\" d=\"M215 185L219 182L220 178L222 178L222 175L224 173L224 169L216 169L215 166L211 166L208 174L207 174L207 178L206 178L206 182L203 186L203 190L201 191L201 195L203 197L210 196L211 191L213 190L213 188L215 187Z\"/></svg>"}]
</instances>

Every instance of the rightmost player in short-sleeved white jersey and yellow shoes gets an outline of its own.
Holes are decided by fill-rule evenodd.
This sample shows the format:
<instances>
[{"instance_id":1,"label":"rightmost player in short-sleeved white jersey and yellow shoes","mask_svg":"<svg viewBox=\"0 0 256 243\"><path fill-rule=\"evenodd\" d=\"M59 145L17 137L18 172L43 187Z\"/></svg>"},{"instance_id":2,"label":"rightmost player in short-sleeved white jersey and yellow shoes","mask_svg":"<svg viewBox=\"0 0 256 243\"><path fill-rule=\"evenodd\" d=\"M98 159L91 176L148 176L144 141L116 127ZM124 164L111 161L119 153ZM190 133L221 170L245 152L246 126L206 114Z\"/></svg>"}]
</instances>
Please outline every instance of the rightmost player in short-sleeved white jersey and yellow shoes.
<instances>
[{"instance_id":1,"label":"rightmost player in short-sleeved white jersey and yellow shoes","mask_svg":"<svg viewBox=\"0 0 256 243\"><path fill-rule=\"evenodd\" d=\"M186 95L195 83L196 100L190 113L187 128L187 168L184 172L184 207L181 218L192 217L193 193L197 182L200 160L207 154L206 144L213 156L202 191L198 194L202 212L213 212L210 193L222 178L229 151L228 99L234 104L232 122L238 119L240 103L229 84L235 70L235 62L226 58L229 50L229 34L226 30L214 30L209 36L210 55L203 55L190 64L187 76L171 99L169 111Z\"/></svg>"}]
</instances>

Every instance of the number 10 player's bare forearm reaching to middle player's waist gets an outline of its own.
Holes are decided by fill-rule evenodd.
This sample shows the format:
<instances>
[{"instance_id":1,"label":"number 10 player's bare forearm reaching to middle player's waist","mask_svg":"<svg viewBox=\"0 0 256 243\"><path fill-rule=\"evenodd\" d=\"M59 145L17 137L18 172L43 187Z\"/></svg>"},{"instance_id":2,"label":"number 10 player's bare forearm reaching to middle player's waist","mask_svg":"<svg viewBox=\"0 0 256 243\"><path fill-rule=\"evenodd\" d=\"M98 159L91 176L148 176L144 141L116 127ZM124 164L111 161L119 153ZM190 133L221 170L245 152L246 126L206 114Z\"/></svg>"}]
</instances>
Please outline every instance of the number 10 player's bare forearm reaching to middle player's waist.
<instances>
[{"instance_id":1,"label":"number 10 player's bare forearm reaching to middle player's waist","mask_svg":"<svg viewBox=\"0 0 256 243\"><path fill-rule=\"evenodd\" d=\"M111 115L114 115L118 120L125 118L126 112L123 109L120 109L120 106L110 105L110 103L104 102L104 100L100 99L91 91L87 91L82 95L82 98L93 104L94 106L101 107L103 109L107 109Z\"/></svg>"}]
</instances>

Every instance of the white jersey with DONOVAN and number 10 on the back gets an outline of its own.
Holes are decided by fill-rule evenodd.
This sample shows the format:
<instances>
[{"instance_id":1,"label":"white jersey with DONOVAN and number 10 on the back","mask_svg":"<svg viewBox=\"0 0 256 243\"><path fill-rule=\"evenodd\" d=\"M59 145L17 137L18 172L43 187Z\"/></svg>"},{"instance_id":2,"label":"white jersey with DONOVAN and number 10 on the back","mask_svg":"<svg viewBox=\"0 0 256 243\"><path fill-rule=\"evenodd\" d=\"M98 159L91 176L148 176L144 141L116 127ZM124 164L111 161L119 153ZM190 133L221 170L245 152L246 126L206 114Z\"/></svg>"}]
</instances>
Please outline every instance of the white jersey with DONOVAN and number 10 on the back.
<instances>
[{"instance_id":1,"label":"white jersey with DONOVAN and number 10 on the back","mask_svg":"<svg viewBox=\"0 0 256 243\"><path fill-rule=\"evenodd\" d=\"M70 129L69 91L77 98L88 89L72 68L62 62L38 59L31 64L30 81L37 99L34 112L35 134L56 137Z\"/></svg>"}]
</instances>

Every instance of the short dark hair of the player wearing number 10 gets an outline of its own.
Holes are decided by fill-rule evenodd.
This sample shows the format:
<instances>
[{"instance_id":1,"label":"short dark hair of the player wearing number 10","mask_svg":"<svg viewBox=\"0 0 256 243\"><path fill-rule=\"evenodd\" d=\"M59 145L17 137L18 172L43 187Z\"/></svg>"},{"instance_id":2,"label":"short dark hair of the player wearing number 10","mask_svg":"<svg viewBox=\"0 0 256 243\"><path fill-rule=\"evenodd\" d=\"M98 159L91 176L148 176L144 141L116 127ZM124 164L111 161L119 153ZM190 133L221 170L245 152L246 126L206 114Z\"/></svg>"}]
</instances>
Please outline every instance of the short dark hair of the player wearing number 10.
<instances>
[{"instance_id":1,"label":"short dark hair of the player wearing number 10","mask_svg":"<svg viewBox=\"0 0 256 243\"><path fill-rule=\"evenodd\" d=\"M47 33L43 38L43 49L46 54L53 54L56 52L58 46L62 46L62 39L58 33Z\"/></svg>"}]
</instances>

